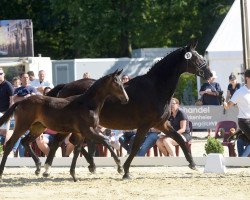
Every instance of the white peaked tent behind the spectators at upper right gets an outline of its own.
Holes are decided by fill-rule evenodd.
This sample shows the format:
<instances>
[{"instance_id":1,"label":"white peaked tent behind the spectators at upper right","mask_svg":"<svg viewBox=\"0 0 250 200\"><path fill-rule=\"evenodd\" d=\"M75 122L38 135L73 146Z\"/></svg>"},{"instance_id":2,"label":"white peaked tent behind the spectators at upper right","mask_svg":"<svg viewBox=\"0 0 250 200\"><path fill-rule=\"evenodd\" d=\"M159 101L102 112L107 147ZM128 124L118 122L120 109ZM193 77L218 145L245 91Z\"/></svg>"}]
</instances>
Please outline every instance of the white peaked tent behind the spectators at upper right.
<instances>
[{"instance_id":1,"label":"white peaked tent behind the spectators at upper right","mask_svg":"<svg viewBox=\"0 0 250 200\"><path fill-rule=\"evenodd\" d=\"M249 15L250 1L247 3ZM216 71L216 82L221 85L224 94L231 73L236 75L238 82L243 82L242 76L238 74L243 71L242 46L240 0L235 0L205 53L209 66Z\"/></svg>"}]
</instances>

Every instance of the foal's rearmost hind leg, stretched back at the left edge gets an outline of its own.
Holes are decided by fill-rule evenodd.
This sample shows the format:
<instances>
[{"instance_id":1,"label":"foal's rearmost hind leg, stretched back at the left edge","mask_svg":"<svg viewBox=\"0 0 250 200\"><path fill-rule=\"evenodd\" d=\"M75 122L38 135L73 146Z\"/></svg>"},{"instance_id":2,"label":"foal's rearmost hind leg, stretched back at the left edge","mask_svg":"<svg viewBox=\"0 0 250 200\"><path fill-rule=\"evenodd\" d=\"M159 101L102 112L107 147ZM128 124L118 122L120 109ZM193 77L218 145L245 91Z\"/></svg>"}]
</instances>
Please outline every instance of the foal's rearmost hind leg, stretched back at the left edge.
<instances>
[{"instance_id":1,"label":"foal's rearmost hind leg, stretched back at the left edge","mask_svg":"<svg viewBox=\"0 0 250 200\"><path fill-rule=\"evenodd\" d=\"M4 153L3 153L3 157L2 157L2 161L1 161L1 165L0 165L0 179L2 179L4 166L6 164L6 160L7 160L8 155L12 151L12 148L13 148L14 144L16 143L16 141L24 134L24 132L25 132L25 130L22 130L22 132L21 131L17 132L15 129L12 136L10 137L10 139L6 142L6 146L4 149Z\"/></svg>"}]
</instances>

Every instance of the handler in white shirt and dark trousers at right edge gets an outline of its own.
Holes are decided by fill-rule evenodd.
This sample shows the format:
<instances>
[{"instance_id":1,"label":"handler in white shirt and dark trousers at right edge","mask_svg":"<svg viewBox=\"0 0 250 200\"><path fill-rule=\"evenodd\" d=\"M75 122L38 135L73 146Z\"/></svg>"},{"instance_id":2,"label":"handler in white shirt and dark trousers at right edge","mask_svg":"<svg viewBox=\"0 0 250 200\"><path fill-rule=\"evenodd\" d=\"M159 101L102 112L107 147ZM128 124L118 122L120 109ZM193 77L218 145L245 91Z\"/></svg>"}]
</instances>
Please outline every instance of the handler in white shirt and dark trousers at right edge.
<instances>
[{"instance_id":1,"label":"handler in white shirt and dark trousers at right edge","mask_svg":"<svg viewBox=\"0 0 250 200\"><path fill-rule=\"evenodd\" d=\"M247 69L244 73L246 84L235 91L229 102L224 102L224 108L237 104L239 108L238 125L247 138L250 141L250 69ZM248 149L248 148L247 148ZM241 152L239 153L241 154ZM242 155L244 152L242 153ZM244 154L245 155L245 154Z\"/></svg>"}]
</instances>

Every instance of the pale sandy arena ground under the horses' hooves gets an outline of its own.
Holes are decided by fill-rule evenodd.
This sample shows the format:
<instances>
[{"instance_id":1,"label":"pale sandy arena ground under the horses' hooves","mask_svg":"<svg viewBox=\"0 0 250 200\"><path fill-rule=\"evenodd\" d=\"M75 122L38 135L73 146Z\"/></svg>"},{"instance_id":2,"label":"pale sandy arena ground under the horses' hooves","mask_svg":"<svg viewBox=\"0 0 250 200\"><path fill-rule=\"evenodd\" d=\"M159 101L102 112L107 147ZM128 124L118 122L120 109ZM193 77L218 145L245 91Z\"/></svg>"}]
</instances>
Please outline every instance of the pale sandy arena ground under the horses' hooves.
<instances>
[{"instance_id":1,"label":"pale sandy arena ground under the horses' hooves","mask_svg":"<svg viewBox=\"0 0 250 200\"><path fill-rule=\"evenodd\" d=\"M203 156L206 133L194 136L197 139L192 143L193 156ZM224 156L228 156L227 148ZM114 167L97 167L96 174L90 174L86 167L78 167L79 181L73 182L68 167L52 168L49 178L37 177L35 167L6 167L0 180L0 200L250 198L250 168L227 168L225 174L203 173L203 170L203 167L193 171L188 167L132 166L132 179L122 180Z\"/></svg>"}]
</instances>

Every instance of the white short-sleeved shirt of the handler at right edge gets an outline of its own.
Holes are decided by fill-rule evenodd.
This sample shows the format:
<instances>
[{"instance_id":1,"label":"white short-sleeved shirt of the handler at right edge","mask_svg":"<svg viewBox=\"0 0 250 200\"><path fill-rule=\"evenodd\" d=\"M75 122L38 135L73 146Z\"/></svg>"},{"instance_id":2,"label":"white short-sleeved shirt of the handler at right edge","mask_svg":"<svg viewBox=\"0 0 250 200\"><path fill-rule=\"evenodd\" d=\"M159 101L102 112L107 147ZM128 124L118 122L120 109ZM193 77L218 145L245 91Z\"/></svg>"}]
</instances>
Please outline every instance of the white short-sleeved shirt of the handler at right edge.
<instances>
[{"instance_id":1,"label":"white short-sleeved shirt of the handler at right edge","mask_svg":"<svg viewBox=\"0 0 250 200\"><path fill-rule=\"evenodd\" d=\"M238 118L250 119L250 89L246 85L236 90L230 101L239 108Z\"/></svg>"}]
</instances>

